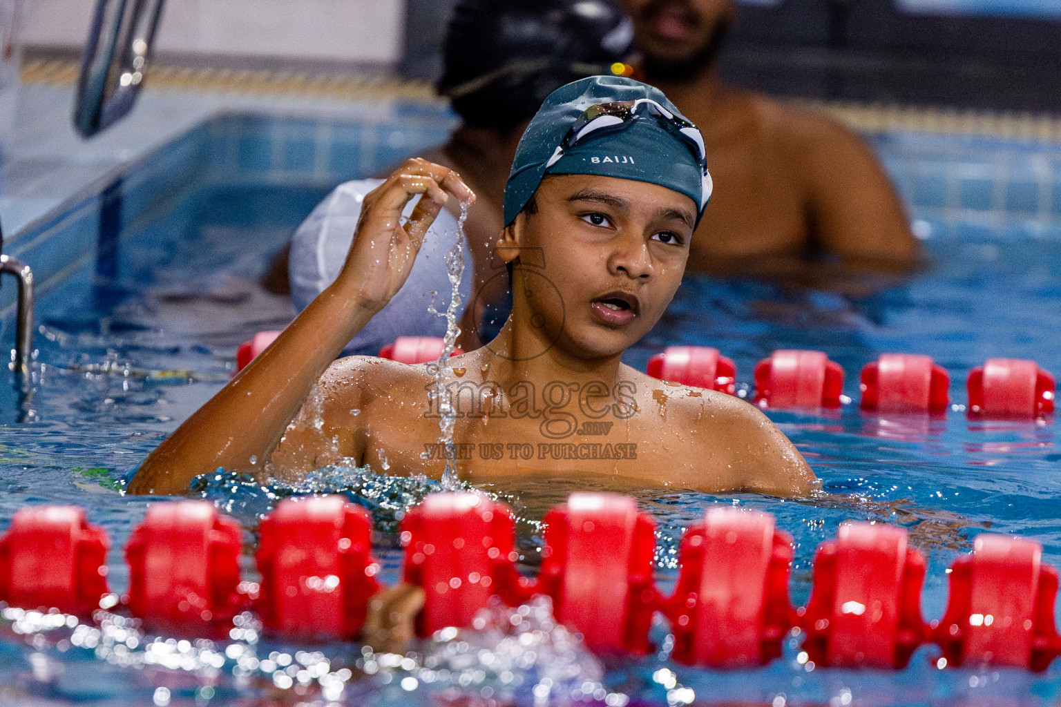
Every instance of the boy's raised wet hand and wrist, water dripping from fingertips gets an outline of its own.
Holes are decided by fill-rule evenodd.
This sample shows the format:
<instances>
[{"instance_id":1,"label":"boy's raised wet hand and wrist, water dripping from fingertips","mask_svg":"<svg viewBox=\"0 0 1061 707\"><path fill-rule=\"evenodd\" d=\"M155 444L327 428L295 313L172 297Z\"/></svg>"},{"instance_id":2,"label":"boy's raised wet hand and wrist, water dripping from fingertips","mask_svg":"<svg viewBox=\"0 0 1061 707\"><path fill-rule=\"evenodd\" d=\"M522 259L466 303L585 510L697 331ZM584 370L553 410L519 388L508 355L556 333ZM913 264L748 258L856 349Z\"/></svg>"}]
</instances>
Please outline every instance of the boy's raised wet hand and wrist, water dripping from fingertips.
<instances>
[{"instance_id":1,"label":"boy's raised wet hand and wrist, water dripping from fingertips","mask_svg":"<svg viewBox=\"0 0 1061 707\"><path fill-rule=\"evenodd\" d=\"M405 205L418 194L419 202L402 224ZM475 200L456 172L420 158L405 160L365 195L358 230L336 284L363 306L382 310L408 278L423 236L451 194L469 204Z\"/></svg>"}]
</instances>

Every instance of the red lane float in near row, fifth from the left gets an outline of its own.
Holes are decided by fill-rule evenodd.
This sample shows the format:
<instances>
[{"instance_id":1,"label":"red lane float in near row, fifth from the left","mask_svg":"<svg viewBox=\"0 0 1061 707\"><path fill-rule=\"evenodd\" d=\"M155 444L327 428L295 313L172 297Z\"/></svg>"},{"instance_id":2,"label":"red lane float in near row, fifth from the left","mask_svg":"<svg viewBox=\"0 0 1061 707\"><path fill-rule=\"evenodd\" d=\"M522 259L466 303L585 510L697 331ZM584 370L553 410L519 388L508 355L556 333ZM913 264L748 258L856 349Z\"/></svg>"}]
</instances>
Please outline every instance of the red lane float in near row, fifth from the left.
<instances>
[{"instance_id":1,"label":"red lane float in near row, fifth from the left","mask_svg":"<svg viewBox=\"0 0 1061 707\"><path fill-rule=\"evenodd\" d=\"M590 650L650 650L655 529L632 497L618 494L571 494L545 515L537 590L552 597L557 620L581 632Z\"/></svg>"}]
</instances>

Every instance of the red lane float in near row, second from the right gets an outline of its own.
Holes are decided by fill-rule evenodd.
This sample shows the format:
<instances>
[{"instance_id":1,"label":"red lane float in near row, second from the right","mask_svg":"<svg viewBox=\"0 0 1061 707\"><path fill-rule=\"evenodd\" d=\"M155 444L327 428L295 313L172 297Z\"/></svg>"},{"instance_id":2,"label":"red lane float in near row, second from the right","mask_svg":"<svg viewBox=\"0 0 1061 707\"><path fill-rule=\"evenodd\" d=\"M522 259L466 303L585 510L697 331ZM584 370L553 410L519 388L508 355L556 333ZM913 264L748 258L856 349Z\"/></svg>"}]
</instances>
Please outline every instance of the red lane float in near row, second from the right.
<instances>
[{"instance_id":1,"label":"red lane float in near row, second from the right","mask_svg":"<svg viewBox=\"0 0 1061 707\"><path fill-rule=\"evenodd\" d=\"M849 523L814 559L803 650L817 665L903 668L924 640L925 560L895 526Z\"/></svg>"}]
</instances>

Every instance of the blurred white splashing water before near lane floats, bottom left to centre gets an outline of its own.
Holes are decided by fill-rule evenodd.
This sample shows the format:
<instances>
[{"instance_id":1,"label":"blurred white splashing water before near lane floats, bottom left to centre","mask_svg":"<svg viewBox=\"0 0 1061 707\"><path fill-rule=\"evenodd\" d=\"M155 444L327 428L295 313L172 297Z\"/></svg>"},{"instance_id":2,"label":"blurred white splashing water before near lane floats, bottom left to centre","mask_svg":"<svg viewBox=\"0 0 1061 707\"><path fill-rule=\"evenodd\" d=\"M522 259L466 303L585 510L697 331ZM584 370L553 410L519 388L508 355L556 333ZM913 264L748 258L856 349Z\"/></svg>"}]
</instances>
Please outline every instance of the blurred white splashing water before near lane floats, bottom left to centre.
<instances>
[{"instance_id":1,"label":"blurred white splashing water before near lane floats, bottom left to centre","mask_svg":"<svg viewBox=\"0 0 1061 707\"><path fill-rule=\"evenodd\" d=\"M117 595L106 599L108 606L120 604ZM244 700L251 695L268 703L315 705L469 704L468 697L473 705L527 707L629 703L626 694L605 687L601 661L555 620L547 598L518 607L493 602L476 614L471 628L442 629L422 644L422 652L407 655L375 653L368 647L358 651L345 641L300 650L263 634L249 613L237 615L227 635L171 637L145 631L139 619L121 611L100 609L84 620L0 609L0 640L32 647L31 672L5 685L10 694L0 704L24 704L19 697L34 692L65 699L33 700L35 704L69 704L72 699L162 706L171 697L186 705L213 704L213 699L249 704ZM27 683L30 694L16 688ZM484 701L474 699L484 695Z\"/></svg>"}]
</instances>

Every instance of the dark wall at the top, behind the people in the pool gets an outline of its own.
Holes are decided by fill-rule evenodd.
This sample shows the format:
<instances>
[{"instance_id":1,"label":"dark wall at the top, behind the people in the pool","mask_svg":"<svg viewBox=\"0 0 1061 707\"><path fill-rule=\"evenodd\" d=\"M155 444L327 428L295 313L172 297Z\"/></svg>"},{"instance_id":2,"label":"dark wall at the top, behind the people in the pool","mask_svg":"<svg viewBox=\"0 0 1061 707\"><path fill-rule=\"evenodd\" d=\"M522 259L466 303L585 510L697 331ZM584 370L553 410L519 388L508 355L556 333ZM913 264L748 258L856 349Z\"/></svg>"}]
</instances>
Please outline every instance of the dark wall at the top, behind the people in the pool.
<instances>
[{"instance_id":1,"label":"dark wall at the top, behind the people in the pool","mask_svg":"<svg viewBox=\"0 0 1061 707\"><path fill-rule=\"evenodd\" d=\"M408 0L404 75L437 75L454 1ZM1061 112L1061 22L1045 19L910 15L892 0L745 5L719 67L779 95Z\"/></svg>"}]
</instances>

